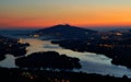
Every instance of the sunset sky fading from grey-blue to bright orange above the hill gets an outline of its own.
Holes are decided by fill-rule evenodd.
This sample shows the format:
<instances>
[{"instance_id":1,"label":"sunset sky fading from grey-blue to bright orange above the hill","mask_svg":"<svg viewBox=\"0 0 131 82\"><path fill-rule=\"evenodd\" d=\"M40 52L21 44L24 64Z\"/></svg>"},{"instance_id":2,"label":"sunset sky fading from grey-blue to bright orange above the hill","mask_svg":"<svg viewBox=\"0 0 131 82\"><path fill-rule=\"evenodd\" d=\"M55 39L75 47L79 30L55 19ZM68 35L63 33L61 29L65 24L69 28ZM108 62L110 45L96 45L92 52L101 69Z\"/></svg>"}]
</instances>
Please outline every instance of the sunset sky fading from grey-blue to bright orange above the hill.
<instances>
[{"instance_id":1,"label":"sunset sky fading from grey-blue to bright orange above the hill","mask_svg":"<svg viewBox=\"0 0 131 82\"><path fill-rule=\"evenodd\" d=\"M0 0L0 27L131 26L131 0Z\"/></svg>"}]
</instances>

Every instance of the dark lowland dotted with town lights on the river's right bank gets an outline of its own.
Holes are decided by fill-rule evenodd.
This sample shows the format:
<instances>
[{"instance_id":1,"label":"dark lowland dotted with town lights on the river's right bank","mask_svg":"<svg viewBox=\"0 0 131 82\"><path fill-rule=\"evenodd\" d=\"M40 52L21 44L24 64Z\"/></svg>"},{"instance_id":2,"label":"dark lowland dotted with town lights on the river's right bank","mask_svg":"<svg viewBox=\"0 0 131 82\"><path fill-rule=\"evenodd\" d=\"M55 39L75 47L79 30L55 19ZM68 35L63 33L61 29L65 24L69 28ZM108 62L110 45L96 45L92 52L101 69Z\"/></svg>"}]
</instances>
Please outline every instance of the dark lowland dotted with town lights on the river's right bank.
<instances>
[{"instance_id":1,"label":"dark lowland dotted with town lights on the river's right bank","mask_svg":"<svg viewBox=\"0 0 131 82\"><path fill-rule=\"evenodd\" d=\"M98 33L92 39L64 39L53 40L61 47L75 51L91 51L103 54L112 59L112 63L131 68L131 32L120 33L116 31Z\"/></svg>"}]
</instances>

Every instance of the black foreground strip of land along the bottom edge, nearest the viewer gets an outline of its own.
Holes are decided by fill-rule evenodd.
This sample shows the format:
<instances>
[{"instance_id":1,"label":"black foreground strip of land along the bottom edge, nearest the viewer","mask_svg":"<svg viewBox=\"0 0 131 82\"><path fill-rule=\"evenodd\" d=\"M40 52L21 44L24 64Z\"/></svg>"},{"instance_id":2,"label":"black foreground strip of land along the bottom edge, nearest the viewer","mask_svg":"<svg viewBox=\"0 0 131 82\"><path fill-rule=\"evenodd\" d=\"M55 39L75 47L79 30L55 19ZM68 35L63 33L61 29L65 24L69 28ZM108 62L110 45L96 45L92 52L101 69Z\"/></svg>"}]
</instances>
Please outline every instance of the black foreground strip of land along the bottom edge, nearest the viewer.
<instances>
[{"instance_id":1,"label":"black foreground strip of land along the bottom edge, nearest the viewer","mask_svg":"<svg viewBox=\"0 0 131 82\"><path fill-rule=\"evenodd\" d=\"M131 82L126 75L87 74L83 72L0 68L0 82Z\"/></svg>"}]
</instances>

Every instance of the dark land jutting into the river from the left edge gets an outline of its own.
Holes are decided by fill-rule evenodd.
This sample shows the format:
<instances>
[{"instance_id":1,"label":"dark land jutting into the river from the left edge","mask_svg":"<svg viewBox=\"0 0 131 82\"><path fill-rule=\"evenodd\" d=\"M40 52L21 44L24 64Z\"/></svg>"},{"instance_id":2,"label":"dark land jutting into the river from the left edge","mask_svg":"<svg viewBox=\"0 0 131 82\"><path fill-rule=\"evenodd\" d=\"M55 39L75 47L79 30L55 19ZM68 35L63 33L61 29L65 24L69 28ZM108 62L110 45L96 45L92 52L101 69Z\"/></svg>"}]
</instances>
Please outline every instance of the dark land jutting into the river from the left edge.
<instances>
[{"instance_id":1,"label":"dark land jutting into the river from the left edge","mask_svg":"<svg viewBox=\"0 0 131 82\"><path fill-rule=\"evenodd\" d=\"M29 44L21 44L16 38L0 36L0 60L3 60L7 54L15 57L25 55L27 46L29 46Z\"/></svg>"}]
</instances>

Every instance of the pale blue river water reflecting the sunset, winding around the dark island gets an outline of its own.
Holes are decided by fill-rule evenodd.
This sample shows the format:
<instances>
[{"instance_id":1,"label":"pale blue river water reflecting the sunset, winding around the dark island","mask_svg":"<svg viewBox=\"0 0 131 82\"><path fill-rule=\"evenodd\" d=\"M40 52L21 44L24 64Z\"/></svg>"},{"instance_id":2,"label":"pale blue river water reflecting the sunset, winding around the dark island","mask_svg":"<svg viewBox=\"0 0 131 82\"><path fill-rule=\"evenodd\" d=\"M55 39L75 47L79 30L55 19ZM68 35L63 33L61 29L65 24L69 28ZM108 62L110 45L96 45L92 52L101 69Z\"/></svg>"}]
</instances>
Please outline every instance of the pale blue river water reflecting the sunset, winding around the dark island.
<instances>
[{"instance_id":1,"label":"pale blue river water reflecting the sunset, winding around the dark island","mask_svg":"<svg viewBox=\"0 0 131 82\"><path fill-rule=\"evenodd\" d=\"M104 55L96 55L93 52L78 52L70 49L63 49L59 45L53 45L50 40L40 40L38 38L23 38L23 43L29 43L31 46L27 47L26 56L36 51L58 51L59 54L64 54L70 57L76 57L80 59L82 69L74 71L83 71L87 73L99 73L99 74L110 74L115 77L128 75L131 78L131 70L121 66L114 66L110 63L111 59L105 57ZM7 58L0 62L2 67L15 67L14 57L7 56ZM3 63L3 65L2 65Z\"/></svg>"}]
</instances>

